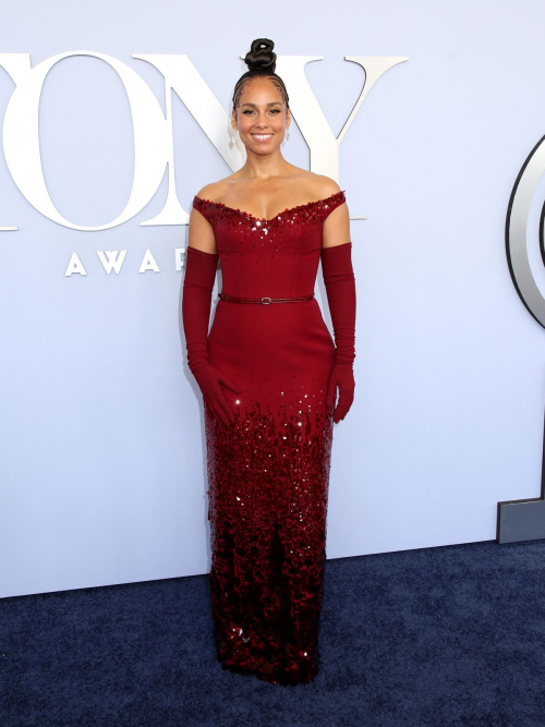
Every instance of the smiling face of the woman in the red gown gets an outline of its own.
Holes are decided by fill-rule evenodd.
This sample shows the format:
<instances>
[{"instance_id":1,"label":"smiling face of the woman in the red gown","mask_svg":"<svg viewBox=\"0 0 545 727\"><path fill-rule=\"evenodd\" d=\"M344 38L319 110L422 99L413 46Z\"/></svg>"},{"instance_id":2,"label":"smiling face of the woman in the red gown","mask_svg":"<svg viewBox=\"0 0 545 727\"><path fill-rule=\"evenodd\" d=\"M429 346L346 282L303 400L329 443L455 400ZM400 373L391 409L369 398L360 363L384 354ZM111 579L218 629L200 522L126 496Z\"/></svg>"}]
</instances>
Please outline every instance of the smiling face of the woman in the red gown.
<instances>
[{"instance_id":1,"label":"smiling face of the woman in the red gown","mask_svg":"<svg viewBox=\"0 0 545 727\"><path fill-rule=\"evenodd\" d=\"M290 111L274 80L247 81L232 114L232 126L239 130L246 150L270 154L283 141L290 125Z\"/></svg>"}]
</instances>

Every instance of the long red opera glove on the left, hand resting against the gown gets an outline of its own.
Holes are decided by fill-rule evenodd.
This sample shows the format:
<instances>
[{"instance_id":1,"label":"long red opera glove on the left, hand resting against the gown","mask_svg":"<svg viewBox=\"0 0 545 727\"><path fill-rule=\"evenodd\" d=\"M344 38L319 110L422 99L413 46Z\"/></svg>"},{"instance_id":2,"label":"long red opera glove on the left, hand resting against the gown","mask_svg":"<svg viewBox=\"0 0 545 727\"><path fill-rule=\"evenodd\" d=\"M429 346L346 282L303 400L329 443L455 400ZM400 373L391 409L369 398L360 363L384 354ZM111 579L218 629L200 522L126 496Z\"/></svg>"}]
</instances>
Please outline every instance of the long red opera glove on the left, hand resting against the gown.
<instances>
[{"instance_id":1,"label":"long red opera glove on the left, hand resting against the gown","mask_svg":"<svg viewBox=\"0 0 545 727\"><path fill-rule=\"evenodd\" d=\"M187 247L183 279L182 320L187 347L187 365L216 420L229 424L234 420L221 385L240 393L242 389L208 363L208 325L211 291L216 279L218 256L196 247Z\"/></svg>"}]
</instances>

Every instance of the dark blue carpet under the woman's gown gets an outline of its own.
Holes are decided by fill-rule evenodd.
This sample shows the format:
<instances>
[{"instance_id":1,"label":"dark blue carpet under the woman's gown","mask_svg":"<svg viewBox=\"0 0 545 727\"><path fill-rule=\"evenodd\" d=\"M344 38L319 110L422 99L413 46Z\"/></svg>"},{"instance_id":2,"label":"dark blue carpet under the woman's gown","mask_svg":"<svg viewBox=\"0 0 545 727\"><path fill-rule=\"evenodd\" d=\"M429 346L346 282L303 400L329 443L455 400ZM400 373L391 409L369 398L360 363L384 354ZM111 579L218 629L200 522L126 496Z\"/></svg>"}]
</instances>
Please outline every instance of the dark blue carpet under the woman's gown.
<instances>
[{"instance_id":1,"label":"dark blue carpet under the woman's gown","mask_svg":"<svg viewBox=\"0 0 545 727\"><path fill-rule=\"evenodd\" d=\"M0 601L1 727L544 727L545 541L328 560L314 683L216 661L207 575Z\"/></svg>"}]
</instances>

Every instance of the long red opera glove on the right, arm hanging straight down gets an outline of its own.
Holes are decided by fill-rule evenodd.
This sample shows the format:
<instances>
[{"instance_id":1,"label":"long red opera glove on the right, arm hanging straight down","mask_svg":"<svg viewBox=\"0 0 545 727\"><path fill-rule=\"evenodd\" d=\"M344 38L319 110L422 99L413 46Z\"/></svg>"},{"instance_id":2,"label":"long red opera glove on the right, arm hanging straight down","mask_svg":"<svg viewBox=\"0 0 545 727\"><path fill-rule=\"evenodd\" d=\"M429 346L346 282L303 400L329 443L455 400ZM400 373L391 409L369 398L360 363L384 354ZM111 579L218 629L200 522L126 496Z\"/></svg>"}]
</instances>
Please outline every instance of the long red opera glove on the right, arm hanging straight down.
<instances>
[{"instance_id":1,"label":"long red opera glove on the right, arm hanging straight down","mask_svg":"<svg viewBox=\"0 0 545 727\"><path fill-rule=\"evenodd\" d=\"M355 359L355 277L352 268L352 243L322 249L322 272L331 313L335 335L335 365L327 387L326 404L330 407L339 387L334 411L337 424L348 414L354 400Z\"/></svg>"}]
</instances>

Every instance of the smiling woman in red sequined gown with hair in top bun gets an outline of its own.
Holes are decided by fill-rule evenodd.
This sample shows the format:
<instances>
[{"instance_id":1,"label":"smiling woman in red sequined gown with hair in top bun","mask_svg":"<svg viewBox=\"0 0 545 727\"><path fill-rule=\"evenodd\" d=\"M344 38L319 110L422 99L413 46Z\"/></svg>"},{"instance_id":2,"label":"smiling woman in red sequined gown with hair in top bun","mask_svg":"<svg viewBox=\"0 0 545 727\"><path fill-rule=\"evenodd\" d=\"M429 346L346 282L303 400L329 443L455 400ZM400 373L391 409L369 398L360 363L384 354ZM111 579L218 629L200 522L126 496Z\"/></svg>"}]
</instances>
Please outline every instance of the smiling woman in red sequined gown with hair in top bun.
<instances>
[{"instance_id":1,"label":"smiling woman in red sequined gown with hair in top bun","mask_svg":"<svg viewBox=\"0 0 545 727\"><path fill-rule=\"evenodd\" d=\"M318 673L332 424L354 397L355 281L344 192L282 157L291 116L272 48L254 40L234 89L244 167L193 201L182 316L204 398L218 658L295 684ZM335 344L314 299L320 258Z\"/></svg>"}]
</instances>

